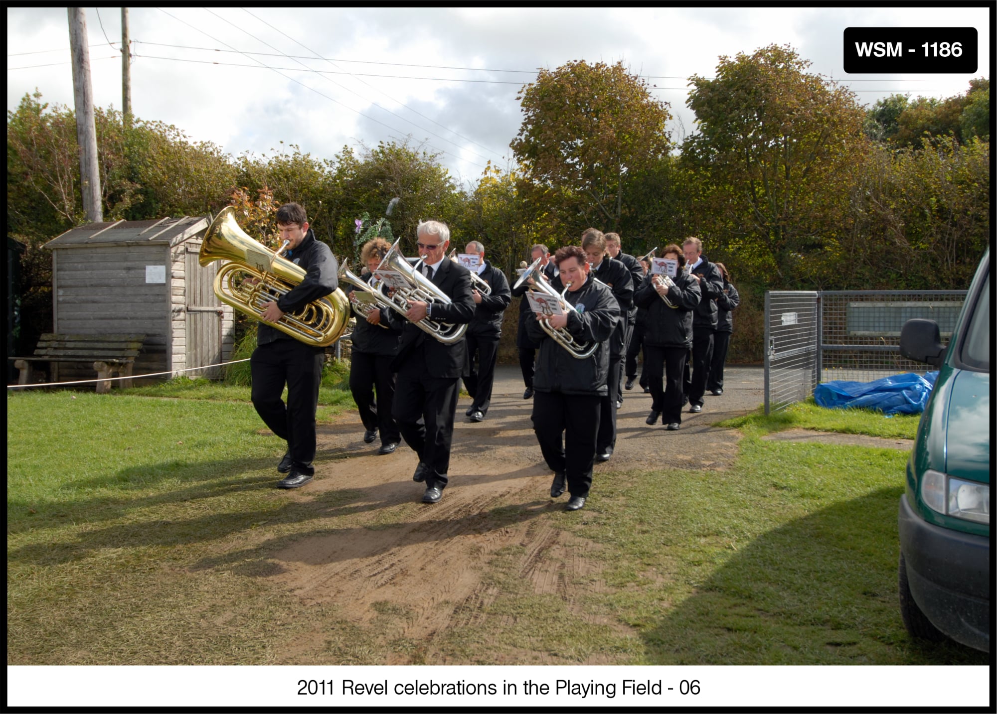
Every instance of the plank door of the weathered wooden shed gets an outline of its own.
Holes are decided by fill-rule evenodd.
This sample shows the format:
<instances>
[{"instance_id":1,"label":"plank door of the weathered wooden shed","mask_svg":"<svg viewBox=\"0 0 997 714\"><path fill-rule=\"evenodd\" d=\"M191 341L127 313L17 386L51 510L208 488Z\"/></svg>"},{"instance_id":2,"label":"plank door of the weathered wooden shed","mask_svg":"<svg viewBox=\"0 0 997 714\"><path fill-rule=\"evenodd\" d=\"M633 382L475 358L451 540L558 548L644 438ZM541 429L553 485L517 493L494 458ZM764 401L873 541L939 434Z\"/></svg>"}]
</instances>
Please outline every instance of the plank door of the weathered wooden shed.
<instances>
[{"instance_id":1,"label":"plank door of the weathered wooden shed","mask_svg":"<svg viewBox=\"0 0 997 714\"><path fill-rule=\"evenodd\" d=\"M197 264L200 244L186 244L186 366L202 367L221 362L221 301L214 294L217 261ZM191 379L220 379L221 368L187 372Z\"/></svg>"}]
</instances>

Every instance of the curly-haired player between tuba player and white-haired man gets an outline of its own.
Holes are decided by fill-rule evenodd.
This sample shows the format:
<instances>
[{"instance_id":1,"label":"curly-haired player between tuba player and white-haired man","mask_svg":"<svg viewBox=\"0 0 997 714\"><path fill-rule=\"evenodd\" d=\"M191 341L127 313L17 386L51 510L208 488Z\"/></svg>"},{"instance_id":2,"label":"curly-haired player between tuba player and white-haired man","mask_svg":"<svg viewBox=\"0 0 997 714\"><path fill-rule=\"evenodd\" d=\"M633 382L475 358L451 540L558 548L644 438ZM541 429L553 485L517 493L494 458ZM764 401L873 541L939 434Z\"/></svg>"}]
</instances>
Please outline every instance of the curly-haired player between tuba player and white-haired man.
<instances>
[{"instance_id":1,"label":"curly-haired player between tuba player and white-haired man","mask_svg":"<svg viewBox=\"0 0 997 714\"><path fill-rule=\"evenodd\" d=\"M360 250L360 262L367 266L361 279L370 282L373 271L391 249L391 243L384 238L374 238L364 243ZM381 290L387 293L387 288ZM353 285L347 288L347 296L356 302ZM368 312L369 310L369 312ZM402 441L398 425L391 414L391 403L395 398L395 373L391 371L392 360L398 354L398 340L402 336L399 326L393 327L388 320L387 307L359 303L357 326L353 329L353 352L350 358L350 391L353 401L360 410L360 421L364 424L364 443L371 444L381 435L381 449L378 454L391 454ZM363 313L367 313L363 317ZM377 391L375 406L374 394Z\"/></svg>"}]
</instances>

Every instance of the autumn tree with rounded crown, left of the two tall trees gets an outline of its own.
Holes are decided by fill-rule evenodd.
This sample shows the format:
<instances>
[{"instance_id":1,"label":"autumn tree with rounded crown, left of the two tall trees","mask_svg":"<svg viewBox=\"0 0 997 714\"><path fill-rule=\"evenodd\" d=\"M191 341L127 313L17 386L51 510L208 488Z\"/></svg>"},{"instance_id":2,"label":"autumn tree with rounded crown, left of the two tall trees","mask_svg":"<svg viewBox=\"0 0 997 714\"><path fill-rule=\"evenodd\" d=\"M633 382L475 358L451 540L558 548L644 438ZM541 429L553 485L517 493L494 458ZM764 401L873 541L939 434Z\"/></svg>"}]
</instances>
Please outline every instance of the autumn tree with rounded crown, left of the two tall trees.
<instances>
[{"instance_id":1,"label":"autumn tree with rounded crown, left of the two tall trees","mask_svg":"<svg viewBox=\"0 0 997 714\"><path fill-rule=\"evenodd\" d=\"M523 113L511 148L568 230L622 229L638 177L668 157L667 106L622 62L569 62L539 71L516 99Z\"/></svg>"}]
</instances>

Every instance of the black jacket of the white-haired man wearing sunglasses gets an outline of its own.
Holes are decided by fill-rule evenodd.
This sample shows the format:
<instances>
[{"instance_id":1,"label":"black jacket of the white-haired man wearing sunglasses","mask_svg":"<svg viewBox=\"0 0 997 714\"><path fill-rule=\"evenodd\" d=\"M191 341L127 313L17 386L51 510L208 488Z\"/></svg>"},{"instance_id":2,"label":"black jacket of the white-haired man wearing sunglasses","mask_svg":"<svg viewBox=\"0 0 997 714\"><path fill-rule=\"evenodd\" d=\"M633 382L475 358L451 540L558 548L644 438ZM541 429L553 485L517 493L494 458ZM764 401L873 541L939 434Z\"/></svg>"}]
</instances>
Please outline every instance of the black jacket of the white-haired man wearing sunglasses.
<instances>
[{"instance_id":1,"label":"black jacket of the white-haired man wearing sunglasses","mask_svg":"<svg viewBox=\"0 0 997 714\"><path fill-rule=\"evenodd\" d=\"M449 305L434 303L432 317L437 322L463 325L475 316L475 298L471 296L471 272L454 260L444 258L433 275L433 284L450 299ZM402 341L398 355L391 363L393 372L400 371L405 362L418 349L425 350L426 369L430 377L457 378L464 371L468 348L464 340L444 344L424 330L416 327L404 316L391 311L392 324L402 328Z\"/></svg>"}]
</instances>

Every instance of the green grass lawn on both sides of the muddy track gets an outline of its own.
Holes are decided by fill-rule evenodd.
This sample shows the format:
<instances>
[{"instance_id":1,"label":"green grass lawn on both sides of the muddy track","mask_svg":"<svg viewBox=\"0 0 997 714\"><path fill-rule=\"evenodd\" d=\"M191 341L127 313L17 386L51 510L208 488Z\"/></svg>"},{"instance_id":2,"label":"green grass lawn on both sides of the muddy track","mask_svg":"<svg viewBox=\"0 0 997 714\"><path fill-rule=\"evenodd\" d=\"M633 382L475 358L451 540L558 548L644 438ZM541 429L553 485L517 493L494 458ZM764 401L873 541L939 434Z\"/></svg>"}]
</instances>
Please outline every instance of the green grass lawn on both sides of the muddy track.
<instances>
[{"instance_id":1,"label":"green grass lawn on both sides of the muddy track","mask_svg":"<svg viewBox=\"0 0 997 714\"><path fill-rule=\"evenodd\" d=\"M266 577L268 548L314 536L317 523L334 532L349 516L330 507L357 494L282 498L280 449L258 433L247 395L149 389L8 394L8 664L267 664L306 627ZM338 399L330 413L347 405ZM520 649L619 664L987 663L903 630L904 453L760 438L791 427L911 436L916 418L816 409L739 420L745 439L727 471L612 474L580 519L538 517L596 543L604 584L583 590L582 605L612 626L574 621L559 598L534 594L512 546L484 563L498 590L484 619L443 633L439 647L468 663ZM524 510L509 504L494 520ZM408 518L394 511L368 527ZM244 555L219 556L231 552ZM365 628L325 606L309 617L338 633L336 661L384 661L378 620Z\"/></svg>"}]
</instances>

